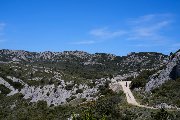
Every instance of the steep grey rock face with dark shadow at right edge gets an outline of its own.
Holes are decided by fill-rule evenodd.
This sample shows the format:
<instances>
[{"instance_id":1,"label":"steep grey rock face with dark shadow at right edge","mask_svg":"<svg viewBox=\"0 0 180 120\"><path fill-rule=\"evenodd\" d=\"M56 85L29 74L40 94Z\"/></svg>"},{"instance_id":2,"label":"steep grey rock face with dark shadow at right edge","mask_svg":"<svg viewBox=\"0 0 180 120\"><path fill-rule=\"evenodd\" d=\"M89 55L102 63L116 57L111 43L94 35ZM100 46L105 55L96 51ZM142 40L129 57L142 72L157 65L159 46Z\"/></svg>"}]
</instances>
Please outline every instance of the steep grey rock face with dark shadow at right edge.
<instances>
[{"instance_id":1,"label":"steep grey rock face with dark shadow at right edge","mask_svg":"<svg viewBox=\"0 0 180 120\"><path fill-rule=\"evenodd\" d=\"M149 92L154 88L159 87L164 82L176 79L180 76L180 51L171 55L166 68L158 71L149 77L149 82L146 84L145 91Z\"/></svg>"}]
</instances>

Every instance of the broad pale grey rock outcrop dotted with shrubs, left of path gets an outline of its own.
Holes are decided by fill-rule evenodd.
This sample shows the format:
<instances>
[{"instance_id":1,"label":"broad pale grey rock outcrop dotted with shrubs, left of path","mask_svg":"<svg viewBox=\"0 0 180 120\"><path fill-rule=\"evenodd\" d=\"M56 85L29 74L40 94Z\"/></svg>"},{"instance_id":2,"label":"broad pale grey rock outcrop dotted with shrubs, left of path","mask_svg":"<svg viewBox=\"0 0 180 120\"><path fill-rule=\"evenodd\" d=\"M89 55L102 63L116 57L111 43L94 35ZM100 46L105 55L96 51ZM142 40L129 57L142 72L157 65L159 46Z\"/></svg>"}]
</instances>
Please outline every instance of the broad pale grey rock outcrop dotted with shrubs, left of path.
<instances>
[{"instance_id":1,"label":"broad pale grey rock outcrop dotted with shrubs, left of path","mask_svg":"<svg viewBox=\"0 0 180 120\"><path fill-rule=\"evenodd\" d=\"M82 89L82 93L76 93L78 89ZM63 85L55 87L55 85L46 85L43 87L34 87L26 85L21 89L20 93L24 95L25 99L31 99L31 102L37 102L44 100L50 106L51 104L57 106L63 103L67 103L67 99L86 98L87 100L94 100L96 98L91 97L98 92L98 88L89 88L87 85L81 85L73 87L72 90L64 89Z\"/></svg>"}]
</instances>

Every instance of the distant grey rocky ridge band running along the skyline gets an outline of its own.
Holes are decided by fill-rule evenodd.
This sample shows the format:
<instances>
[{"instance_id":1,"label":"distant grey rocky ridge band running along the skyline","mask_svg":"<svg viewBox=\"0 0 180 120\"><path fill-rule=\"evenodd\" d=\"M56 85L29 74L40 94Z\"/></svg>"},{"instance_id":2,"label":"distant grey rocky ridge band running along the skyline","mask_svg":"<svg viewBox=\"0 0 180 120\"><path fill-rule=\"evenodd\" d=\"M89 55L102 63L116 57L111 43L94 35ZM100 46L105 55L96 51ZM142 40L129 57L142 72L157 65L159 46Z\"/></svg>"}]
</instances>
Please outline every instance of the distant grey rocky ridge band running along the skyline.
<instances>
[{"instance_id":1,"label":"distant grey rocky ridge band running along the skyline","mask_svg":"<svg viewBox=\"0 0 180 120\"><path fill-rule=\"evenodd\" d=\"M116 72L116 74L140 71L142 69L157 69L167 61L167 55L156 52L130 53L127 56L83 51L64 52L28 52L23 50L0 50L0 62L18 62L32 64L67 64L78 67L93 67ZM54 67L54 66L52 66ZM64 67L59 66L59 67ZM113 73L114 74L114 73Z\"/></svg>"}]
</instances>

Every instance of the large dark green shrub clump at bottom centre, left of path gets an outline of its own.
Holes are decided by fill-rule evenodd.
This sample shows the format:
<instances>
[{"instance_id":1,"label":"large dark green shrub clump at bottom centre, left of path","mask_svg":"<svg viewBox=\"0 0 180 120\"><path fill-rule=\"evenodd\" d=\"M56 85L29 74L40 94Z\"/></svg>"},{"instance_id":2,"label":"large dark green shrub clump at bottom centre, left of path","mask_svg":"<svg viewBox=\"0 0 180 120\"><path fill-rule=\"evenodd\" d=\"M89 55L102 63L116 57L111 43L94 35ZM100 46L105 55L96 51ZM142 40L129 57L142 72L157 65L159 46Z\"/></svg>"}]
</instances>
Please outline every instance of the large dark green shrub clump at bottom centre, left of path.
<instances>
[{"instance_id":1,"label":"large dark green shrub clump at bottom centre, left of path","mask_svg":"<svg viewBox=\"0 0 180 120\"><path fill-rule=\"evenodd\" d=\"M122 94L104 95L97 101L87 103L88 108L82 110L77 120L119 120L121 113L118 104L122 100Z\"/></svg>"}]
</instances>

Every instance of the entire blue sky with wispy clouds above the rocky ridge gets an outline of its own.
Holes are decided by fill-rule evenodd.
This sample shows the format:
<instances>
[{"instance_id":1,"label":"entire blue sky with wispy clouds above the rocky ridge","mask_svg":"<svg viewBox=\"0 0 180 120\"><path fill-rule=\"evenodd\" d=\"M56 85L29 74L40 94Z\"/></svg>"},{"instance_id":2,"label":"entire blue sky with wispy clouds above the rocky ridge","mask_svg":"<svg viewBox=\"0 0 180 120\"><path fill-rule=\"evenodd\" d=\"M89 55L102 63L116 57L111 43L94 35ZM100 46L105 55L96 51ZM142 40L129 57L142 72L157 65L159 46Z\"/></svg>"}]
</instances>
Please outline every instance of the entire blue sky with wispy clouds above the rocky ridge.
<instances>
[{"instance_id":1,"label":"entire blue sky with wispy clouds above the rocky ridge","mask_svg":"<svg viewBox=\"0 0 180 120\"><path fill-rule=\"evenodd\" d=\"M180 49L179 0L0 0L0 49Z\"/></svg>"}]
</instances>

